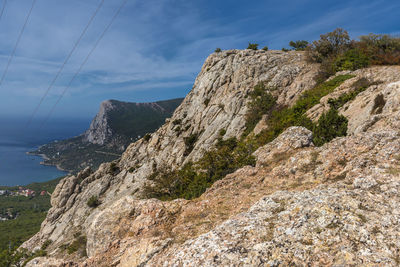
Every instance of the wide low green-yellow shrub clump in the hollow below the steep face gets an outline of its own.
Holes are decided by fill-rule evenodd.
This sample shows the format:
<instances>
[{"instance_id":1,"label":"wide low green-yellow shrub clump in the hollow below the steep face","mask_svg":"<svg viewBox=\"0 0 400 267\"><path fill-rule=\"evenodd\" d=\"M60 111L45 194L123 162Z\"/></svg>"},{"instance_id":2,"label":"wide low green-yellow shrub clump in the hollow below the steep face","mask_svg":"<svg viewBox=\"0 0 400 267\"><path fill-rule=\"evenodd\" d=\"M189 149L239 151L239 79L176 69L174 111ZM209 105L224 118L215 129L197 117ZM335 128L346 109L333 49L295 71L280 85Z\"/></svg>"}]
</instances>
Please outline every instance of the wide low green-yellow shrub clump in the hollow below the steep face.
<instances>
[{"instance_id":1,"label":"wide low green-yellow shrub clump in the hollow below the steep face","mask_svg":"<svg viewBox=\"0 0 400 267\"><path fill-rule=\"evenodd\" d=\"M252 153L254 142L239 142L236 138L219 141L216 148L208 151L196 163L187 163L180 170L161 168L149 177L145 185L147 197L161 200L199 197L215 181L245 165L255 165Z\"/></svg>"}]
</instances>

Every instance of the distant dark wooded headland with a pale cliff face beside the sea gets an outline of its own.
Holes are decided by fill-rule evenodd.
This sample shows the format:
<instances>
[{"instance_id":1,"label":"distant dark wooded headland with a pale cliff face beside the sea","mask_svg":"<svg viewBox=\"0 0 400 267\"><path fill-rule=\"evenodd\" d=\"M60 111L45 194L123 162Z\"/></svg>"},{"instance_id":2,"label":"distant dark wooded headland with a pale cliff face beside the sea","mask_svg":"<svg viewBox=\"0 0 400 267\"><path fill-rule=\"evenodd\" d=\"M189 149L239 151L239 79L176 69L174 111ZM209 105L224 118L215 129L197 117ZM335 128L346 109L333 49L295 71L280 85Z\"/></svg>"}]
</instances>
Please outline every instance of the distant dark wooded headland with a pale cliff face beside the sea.
<instances>
[{"instance_id":1,"label":"distant dark wooded headland with a pale cliff face beside the sea","mask_svg":"<svg viewBox=\"0 0 400 267\"><path fill-rule=\"evenodd\" d=\"M73 173L86 167L96 169L103 162L118 159L134 140L157 130L182 100L152 103L104 101L85 133L43 145L31 154L43 155L44 164L56 165Z\"/></svg>"}]
</instances>

